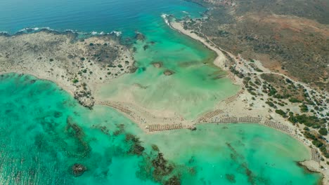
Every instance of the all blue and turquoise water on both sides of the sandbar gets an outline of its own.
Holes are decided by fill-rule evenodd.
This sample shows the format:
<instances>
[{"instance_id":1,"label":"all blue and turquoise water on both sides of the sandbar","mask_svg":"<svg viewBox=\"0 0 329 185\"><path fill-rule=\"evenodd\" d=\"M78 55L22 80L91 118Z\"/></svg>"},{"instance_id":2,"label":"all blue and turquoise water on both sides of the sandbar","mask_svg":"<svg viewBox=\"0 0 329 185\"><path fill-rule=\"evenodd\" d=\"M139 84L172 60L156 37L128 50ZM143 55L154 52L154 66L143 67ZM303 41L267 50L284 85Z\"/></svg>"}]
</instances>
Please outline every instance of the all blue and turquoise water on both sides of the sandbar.
<instances>
[{"instance_id":1,"label":"all blue and turquoise water on both sides of the sandbar","mask_svg":"<svg viewBox=\"0 0 329 185\"><path fill-rule=\"evenodd\" d=\"M169 29L160 17L200 16L205 8L196 4L2 0L0 10L0 31L11 34L25 27L145 34L145 41L133 44L138 70L105 85L97 95L103 100L124 95L148 109L193 119L239 89L228 78L217 78L224 72L211 64L214 53ZM164 76L167 69L175 74ZM113 109L89 111L55 84L17 74L0 77L0 96L0 184L165 184L174 177L182 184L316 184L320 179L295 164L309 158L302 144L259 125L200 125L195 132L146 135ZM153 166L156 148L168 160L164 167ZM72 173L75 163L87 168L79 177Z\"/></svg>"}]
</instances>

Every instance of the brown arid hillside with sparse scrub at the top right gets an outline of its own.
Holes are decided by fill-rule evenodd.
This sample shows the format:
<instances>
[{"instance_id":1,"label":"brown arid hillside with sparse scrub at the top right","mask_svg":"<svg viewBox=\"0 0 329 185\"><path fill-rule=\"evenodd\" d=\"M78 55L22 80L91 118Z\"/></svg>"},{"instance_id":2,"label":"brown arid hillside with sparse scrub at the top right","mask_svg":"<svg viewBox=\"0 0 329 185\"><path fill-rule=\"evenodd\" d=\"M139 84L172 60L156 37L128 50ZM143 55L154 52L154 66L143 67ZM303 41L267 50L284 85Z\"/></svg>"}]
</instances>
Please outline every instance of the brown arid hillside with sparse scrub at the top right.
<instances>
[{"instance_id":1,"label":"brown arid hillside with sparse scrub at the top right","mask_svg":"<svg viewBox=\"0 0 329 185\"><path fill-rule=\"evenodd\" d=\"M329 91L329 0L191 0L206 20L186 23L217 46Z\"/></svg>"}]
</instances>

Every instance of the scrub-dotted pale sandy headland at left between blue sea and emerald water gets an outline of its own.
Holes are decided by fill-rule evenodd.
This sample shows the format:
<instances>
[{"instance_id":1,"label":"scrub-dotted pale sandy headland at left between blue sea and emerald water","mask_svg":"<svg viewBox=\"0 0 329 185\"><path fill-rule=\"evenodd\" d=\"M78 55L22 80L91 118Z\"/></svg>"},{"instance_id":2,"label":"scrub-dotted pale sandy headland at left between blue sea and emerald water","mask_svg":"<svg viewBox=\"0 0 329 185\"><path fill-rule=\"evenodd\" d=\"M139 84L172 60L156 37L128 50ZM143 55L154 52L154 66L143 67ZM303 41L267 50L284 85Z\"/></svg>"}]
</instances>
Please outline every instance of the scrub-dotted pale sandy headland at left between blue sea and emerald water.
<instances>
[{"instance_id":1,"label":"scrub-dotted pale sandy headland at left between blue sea and emerald water","mask_svg":"<svg viewBox=\"0 0 329 185\"><path fill-rule=\"evenodd\" d=\"M0 74L30 74L53 81L85 107L99 84L134 69L131 50L114 36L77 39L72 32L0 36Z\"/></svg>"}]
</instances>

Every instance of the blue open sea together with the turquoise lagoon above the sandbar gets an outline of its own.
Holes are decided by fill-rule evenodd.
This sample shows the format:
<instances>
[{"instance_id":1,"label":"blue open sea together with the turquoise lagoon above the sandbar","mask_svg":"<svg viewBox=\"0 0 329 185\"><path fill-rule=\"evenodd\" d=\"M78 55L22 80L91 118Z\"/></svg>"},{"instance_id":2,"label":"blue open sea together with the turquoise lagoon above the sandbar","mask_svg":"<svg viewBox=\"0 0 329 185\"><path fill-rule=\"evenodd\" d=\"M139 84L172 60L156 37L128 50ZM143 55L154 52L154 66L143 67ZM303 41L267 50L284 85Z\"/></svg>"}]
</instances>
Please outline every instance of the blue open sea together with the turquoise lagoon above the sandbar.
<instances>
[{"instance_id":1,"label":"blue open sea together with the turquoise lagoon above the sandbar","mask_svg":"<svg viewBox=\"0 0 329 185\"><path fill-rule=\"evenodd\" d=\"M105 85L98 95L103 100L122 101L125 92L123 100L131 97L130 102L148 109L175 111L192 119L238 91L228 78L217 79L224 72L212 65L212 51L174 32L161 18L162 13L198 17L206 10L197 4L180 0L4 0L2 4L0 30L11 33L25 27L51 27L98 33L118 30L124 37L134 37L135 31L144 34L145 41L134 43L138 71ZM152 62L162 62L163 67L156 69ZM164 76L167 69L175 74Z\"/></svg>"}]
</instances>

